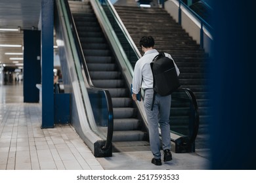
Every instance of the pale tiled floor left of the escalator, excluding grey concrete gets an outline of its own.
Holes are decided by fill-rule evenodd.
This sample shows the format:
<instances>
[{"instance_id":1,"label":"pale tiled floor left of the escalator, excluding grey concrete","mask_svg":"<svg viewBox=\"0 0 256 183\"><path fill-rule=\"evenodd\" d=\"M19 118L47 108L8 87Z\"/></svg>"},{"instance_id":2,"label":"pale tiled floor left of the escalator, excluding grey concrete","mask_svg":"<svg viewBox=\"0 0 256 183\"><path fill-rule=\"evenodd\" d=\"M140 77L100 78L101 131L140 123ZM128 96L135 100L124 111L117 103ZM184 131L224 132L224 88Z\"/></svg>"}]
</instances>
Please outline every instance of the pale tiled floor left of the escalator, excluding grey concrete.
<instances>
[{"instance_id":1,"label":"pale tiled floor left of the escalator, excluding grey concrete","mask_svg":"<svg viewBox=\"0 0 256 183\"><path fill-rule=\"evenodd\" d=\"M72 126L41 129L41 105L19 103L20 93L22 84L0 86L0 170L102 169Z\"/></svg>"}]
</instances>

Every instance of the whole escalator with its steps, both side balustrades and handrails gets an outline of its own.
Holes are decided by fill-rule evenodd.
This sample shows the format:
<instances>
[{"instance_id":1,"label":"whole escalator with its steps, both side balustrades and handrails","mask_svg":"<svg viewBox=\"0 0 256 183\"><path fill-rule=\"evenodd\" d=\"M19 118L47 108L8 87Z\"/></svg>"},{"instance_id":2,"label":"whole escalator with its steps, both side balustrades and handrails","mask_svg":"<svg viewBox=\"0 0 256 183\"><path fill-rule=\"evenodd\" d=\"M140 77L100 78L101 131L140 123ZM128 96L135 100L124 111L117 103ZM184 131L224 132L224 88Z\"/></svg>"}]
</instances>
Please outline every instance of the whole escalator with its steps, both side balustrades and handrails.
<instances>
[{"instance_id":1,"label":"whole escalator with its steps, both side balustrades and handrails","mask_svg":"<svg viewBox=\"0 0 256 183\"><path fill-rule=\"evenodd\" d=\"M131 99L132 65L140 55L129 35L113 31L104 8L99 1L60 0L54 7L64 87L72 93L72 125L96 157L150 150L143 102ZM177 127L182 130L171 131L173 150L193 152L196 99L181 88L173 103L186 105L186 120Z\"/></svg>"}]
</instances>

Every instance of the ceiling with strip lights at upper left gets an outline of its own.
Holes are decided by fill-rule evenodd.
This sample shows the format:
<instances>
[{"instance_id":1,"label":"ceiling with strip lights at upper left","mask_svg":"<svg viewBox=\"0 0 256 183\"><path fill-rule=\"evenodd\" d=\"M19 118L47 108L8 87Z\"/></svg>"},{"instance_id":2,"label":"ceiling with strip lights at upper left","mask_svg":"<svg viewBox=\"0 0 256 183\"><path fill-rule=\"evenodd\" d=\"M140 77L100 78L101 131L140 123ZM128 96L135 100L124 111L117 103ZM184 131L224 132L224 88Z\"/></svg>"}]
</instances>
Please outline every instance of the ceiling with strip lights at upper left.
<instances>
[{"instance_id":1,"label":"ceiling with strip lights at upper left","mask_svg":"<svg viewBox=\"0 0 256 183\"><path fill-rule=\"evenodd\" d=\"M1 31L0 44L19 44L23 46L23 30L38 29L41 13L41 0L1 0L0 1L0 29L18 29L20 31ZM9 48L0 45L0 64L6 67L18 67L10 58L23 56L6 55L5 53L22 53L22 47ZM23 60L18 60L23 63Z\"/></svg>"}]
</instances>

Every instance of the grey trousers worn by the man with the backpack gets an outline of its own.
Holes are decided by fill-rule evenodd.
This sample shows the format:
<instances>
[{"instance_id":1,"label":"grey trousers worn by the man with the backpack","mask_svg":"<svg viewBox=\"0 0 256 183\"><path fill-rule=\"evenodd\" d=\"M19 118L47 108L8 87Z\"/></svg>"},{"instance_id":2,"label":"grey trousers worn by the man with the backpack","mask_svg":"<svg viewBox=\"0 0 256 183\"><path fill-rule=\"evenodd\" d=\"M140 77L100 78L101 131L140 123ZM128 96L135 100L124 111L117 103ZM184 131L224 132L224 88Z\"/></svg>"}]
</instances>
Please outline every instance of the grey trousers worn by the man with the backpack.
<instances>
[{"instance_id":1,"label":"grey trousers worn by the man with the backpack","mask_svg":"<svg viewBox=\"0 0 256 183\"><path fill-rule=\"evenodd\" d=\"M171 95L162 97L161 95L156 94L154 107L152 107L154 90L148 89L145 90L144 95L144 108L146 112L146 117L148 120L148 129L150 137L150 148L154 158L161 158L160 152L160 134L158 127L160 125L161 130L161 139L163 150L171 150L171 135L170 135L170 125L169 125L169 116L171 109ZM159 124L159 125L158 125Z\"/></svg>"}]
</instances>

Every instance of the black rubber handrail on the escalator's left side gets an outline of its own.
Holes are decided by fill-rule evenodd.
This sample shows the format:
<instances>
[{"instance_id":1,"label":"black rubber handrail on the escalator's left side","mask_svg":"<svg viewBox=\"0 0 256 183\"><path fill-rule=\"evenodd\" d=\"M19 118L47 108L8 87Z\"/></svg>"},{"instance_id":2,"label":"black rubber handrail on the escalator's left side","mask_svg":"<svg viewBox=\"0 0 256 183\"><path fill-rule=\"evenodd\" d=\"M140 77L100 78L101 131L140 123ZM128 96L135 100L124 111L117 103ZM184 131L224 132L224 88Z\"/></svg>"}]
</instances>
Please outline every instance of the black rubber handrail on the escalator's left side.
<instances>
[{"instance_id":1,"label":"black rubber handrail on the escalator's left side","mask_svg":"<svg viewBox=\"0 0 256 183\"><path fill-rule=\"evenodd\" d=\"M102 92L104 92L104 95L106 96L106 105L107 105L107 110L108 110L108 131L107 131L107 135L106 135L107 136L106 143L101 148L102 148L102 150L108 150L109 148L112 148L112 137L113 137L113 131L114 131L112 98L111 98L110 92L108 90L104 90L102 88L96 88L95 86L93 86L93 82L91 81L91 77L89 75L89 70L87 68L87 64L85 63L85 56L83 55L83 49L81 48L81 43L79 41L79 36L77 33L77 29L75 27L74 18L70 11L70 5L68 4L68 0L64 0L64 5L66 6L68 19L70 21L70 25L71 25L71 29L72 29L72 35L75 39L75 46L77 48L80 63L83 66L83 69L85 71L85 76L87 78L89 88L91 90L102 91Z\"/></svg>"}]
</instances>

